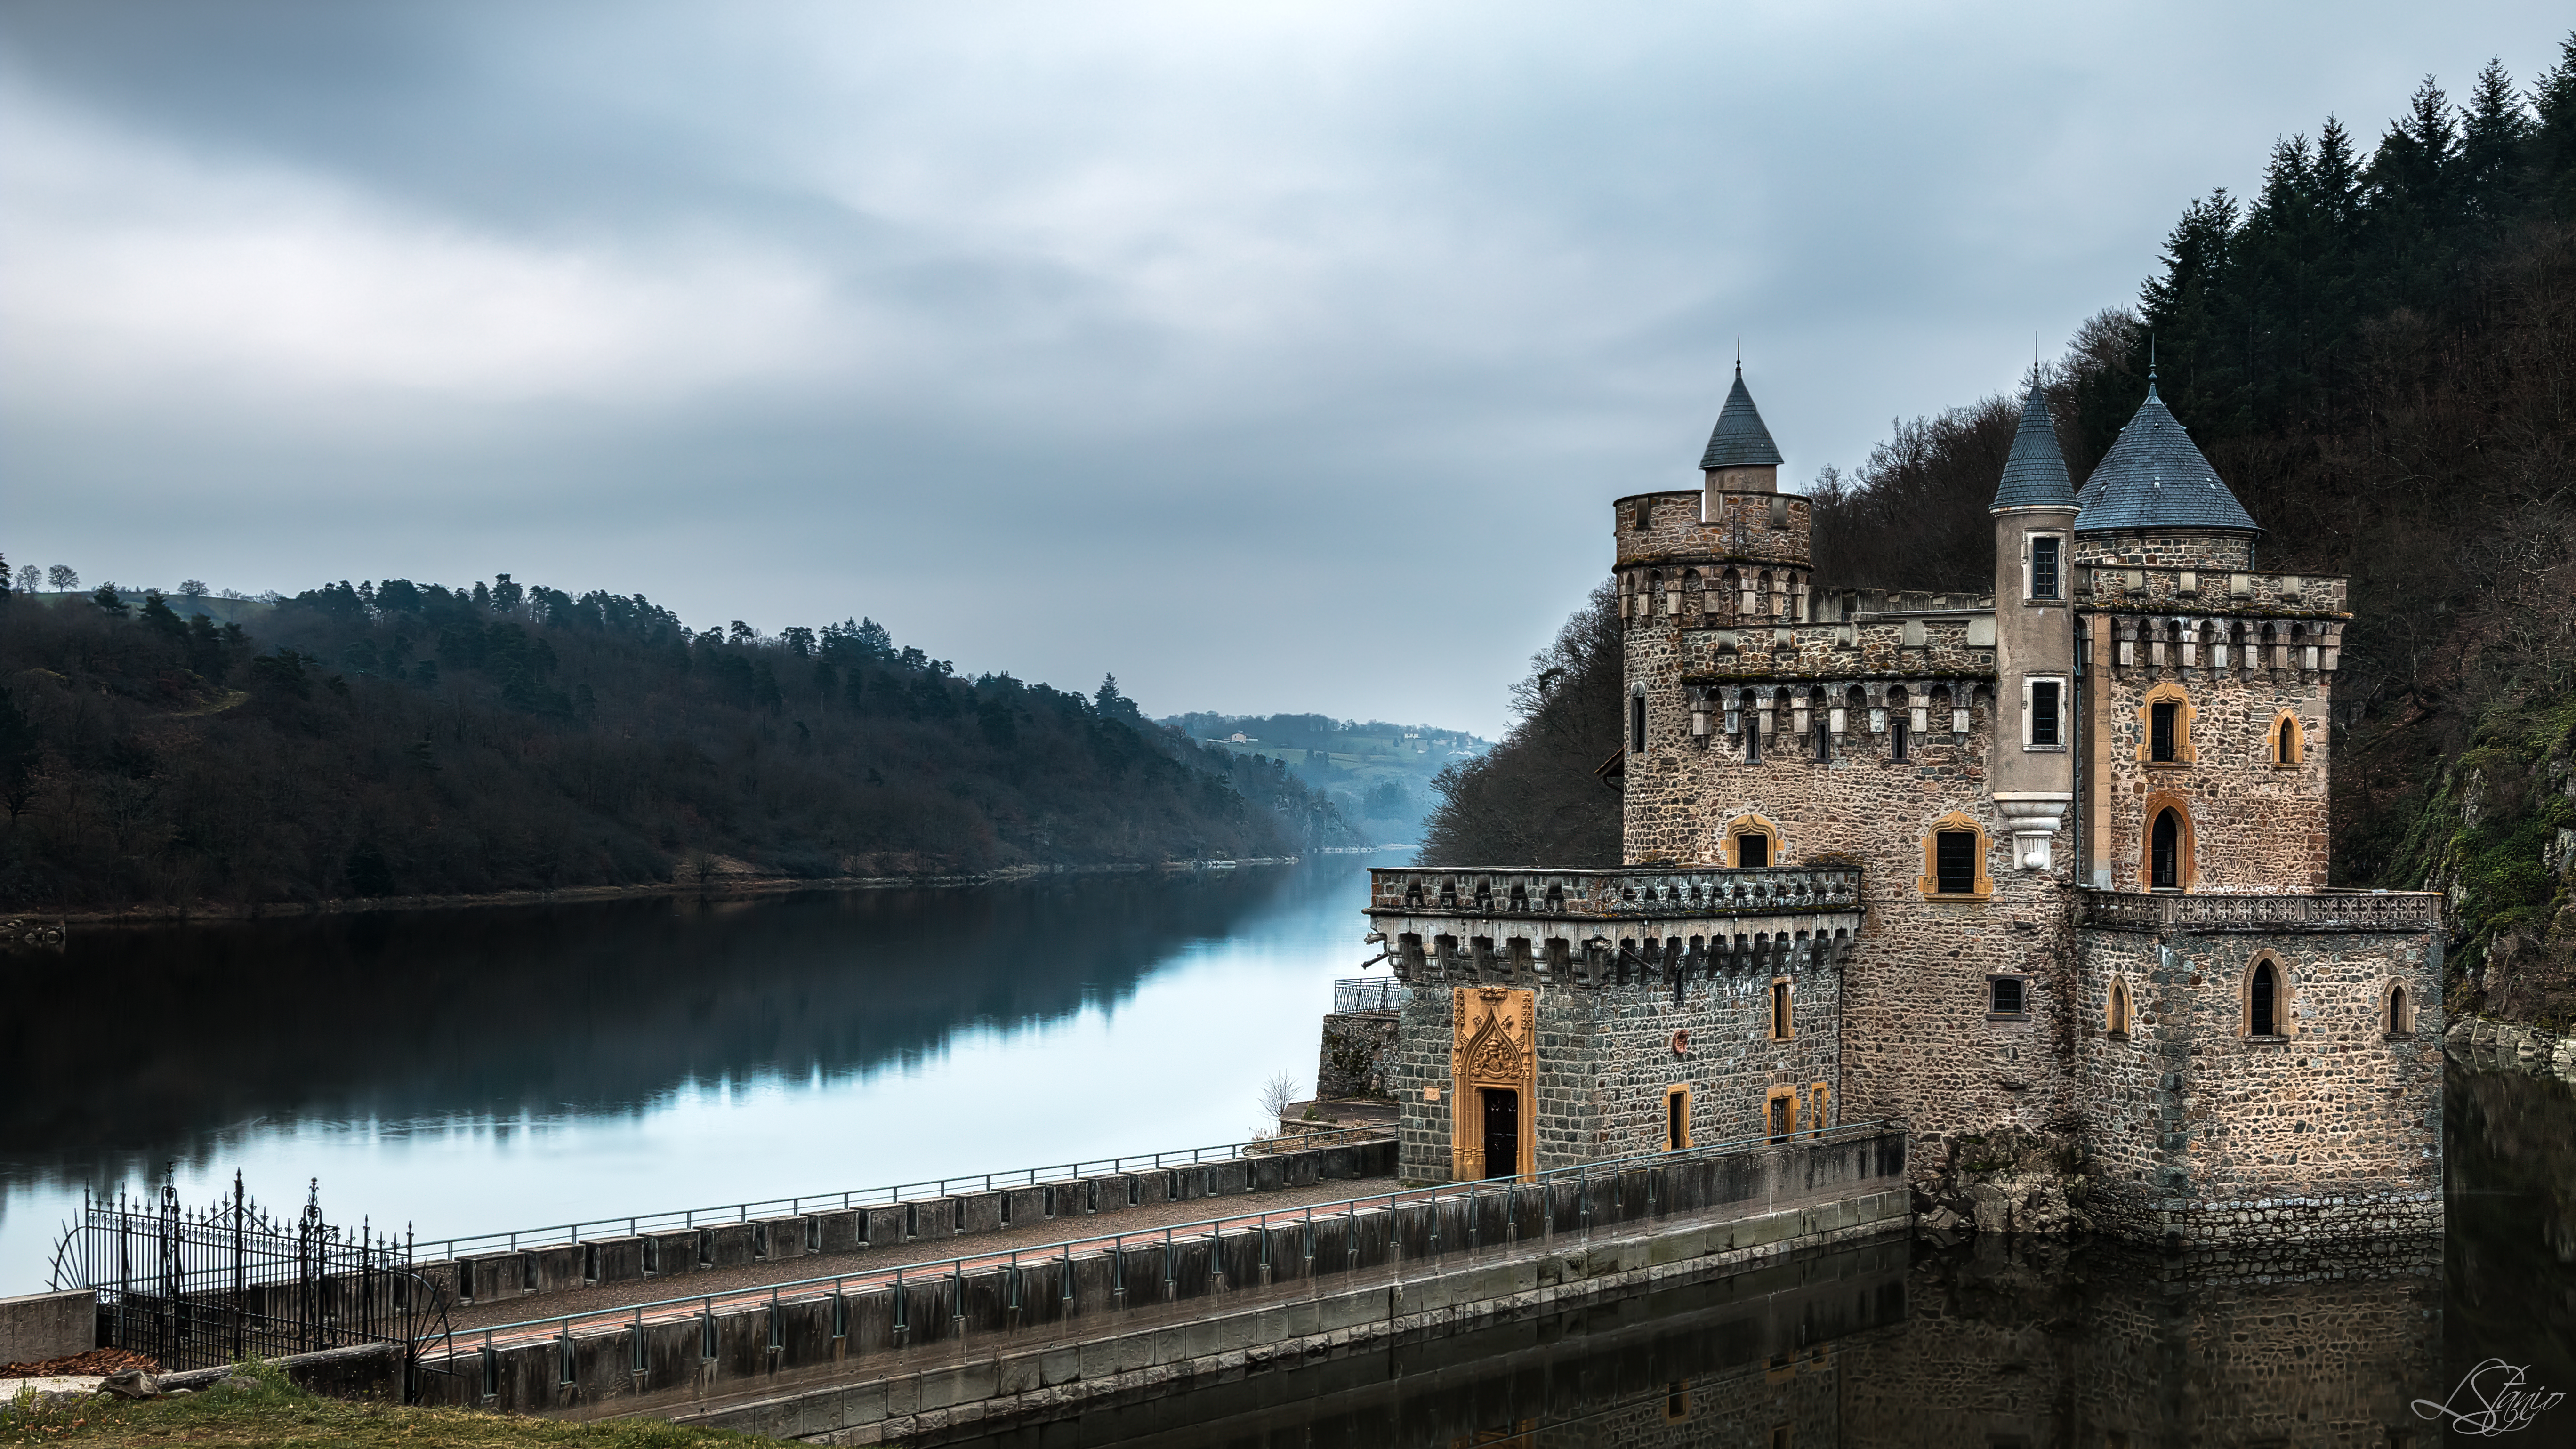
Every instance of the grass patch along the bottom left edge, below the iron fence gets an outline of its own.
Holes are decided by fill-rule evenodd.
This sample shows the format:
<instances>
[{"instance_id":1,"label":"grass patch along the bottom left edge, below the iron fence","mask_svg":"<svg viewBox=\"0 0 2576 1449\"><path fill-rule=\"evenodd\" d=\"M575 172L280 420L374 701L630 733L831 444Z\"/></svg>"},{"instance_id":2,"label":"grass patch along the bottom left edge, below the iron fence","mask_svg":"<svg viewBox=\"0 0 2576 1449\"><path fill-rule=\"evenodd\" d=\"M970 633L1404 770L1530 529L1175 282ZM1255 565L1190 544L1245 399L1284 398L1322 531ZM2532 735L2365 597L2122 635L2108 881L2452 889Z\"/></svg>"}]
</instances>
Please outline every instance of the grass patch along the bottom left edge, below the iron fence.
<instances>
[{"instance_id":1,"label":"grass patch along the bottom left edge, below the iron fence","mask_svg":"<svg viewBox=\"0 0 2576 1449\"><path fill-rule=\"evenodd\" d=\"M240 1382L250 1379L250 1382ZM598 1449L696 1449L716 1444L783 1444L721 1428L683 1428L659 1418L567 1423L477 1413L469 1408L402 1408L309 1395L268 1364L234 1369L234 1382L165 1400L82 1397L36 1405L0 1403L0 1444L281 1444L402 1449L518 1449L577 1444Z\"/></svg>"}]
</instances>

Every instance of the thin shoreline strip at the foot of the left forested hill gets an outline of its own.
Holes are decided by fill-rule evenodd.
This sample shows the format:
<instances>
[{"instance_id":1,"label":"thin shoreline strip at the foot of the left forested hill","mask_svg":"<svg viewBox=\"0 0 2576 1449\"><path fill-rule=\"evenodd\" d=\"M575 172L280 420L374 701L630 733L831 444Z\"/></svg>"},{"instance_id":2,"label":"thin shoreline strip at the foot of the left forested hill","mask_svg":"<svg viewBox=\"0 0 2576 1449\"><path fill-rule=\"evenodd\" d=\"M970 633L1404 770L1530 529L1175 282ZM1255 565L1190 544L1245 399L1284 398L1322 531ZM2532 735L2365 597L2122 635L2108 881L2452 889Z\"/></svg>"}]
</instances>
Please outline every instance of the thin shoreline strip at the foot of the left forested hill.
<instances>
[{"instance_id":1,"label":"thin shoreline strip at the foot of the left forested hill","mask_svg":"<svg viewBox=\"0 0 2576 1449\"><path fill-rule=\"evenodd\" d=\"M355 895L332 900L283 900L255 905L129 905L111 910L21 910L5 920L15 928L70 928L70 926L170 926L191 920L281 920L299 915L361 915L368 910L469 910L482 905L567 905L598 900L652 900L667 895L750 897L793 895L799 890L966 890L979 884L1015 884L1048 877L1097 874L1182 874L1231 871L1242 866L1293 866L1301 856L1252 856L1239 861L1159 861L1159 864L1097 864L1097 866L1002 866L994 871L912 874L912 877L714 877L706 882L641 882L641 884L577 884L562 890L497 890L484 895ZM57 944L49 944L59 949Z\"/></svg>"}]
</instances>

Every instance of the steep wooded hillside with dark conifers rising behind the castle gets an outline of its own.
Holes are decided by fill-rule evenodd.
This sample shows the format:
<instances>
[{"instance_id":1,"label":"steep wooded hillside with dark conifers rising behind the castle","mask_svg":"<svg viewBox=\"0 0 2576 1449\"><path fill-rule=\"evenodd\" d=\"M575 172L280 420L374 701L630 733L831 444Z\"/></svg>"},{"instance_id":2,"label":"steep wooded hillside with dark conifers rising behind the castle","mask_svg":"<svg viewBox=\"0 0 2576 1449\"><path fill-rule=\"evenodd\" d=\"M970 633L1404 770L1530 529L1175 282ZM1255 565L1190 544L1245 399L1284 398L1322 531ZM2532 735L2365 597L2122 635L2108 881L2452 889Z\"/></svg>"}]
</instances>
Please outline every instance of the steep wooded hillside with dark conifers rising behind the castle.
<instances>
[{"instance_id":1,"label":"steep wooded hillside with dark conifers rising behind the castle","mask_svg":"<svg viewBox=\"0 0 2576 1449\"><path fill-rule=\"evenodd\" d=\"M2460 1000L2568 1024L2576 36L2530 90L2494 64L2460 103L2427 80L2367 155L2326 119L2275 142L2251 199L2195 201L2136 307L2087 322L2048 369L2076 477L2143 400L2151 353L2164 400L2267 529L2264 567L2352 575L2336 879L2450 890ZM1899 425L1850 474L1826 469L1819 583L1991 588L1986 503L2014 415L2014 397L1968 402ZM1569 637L1597 627L1587 616ZM1540 678L1494 763L1455 776L1432 820L1440 859L1522 859L1502 825L1515 794L1564 812L1574 771L1618 748L1615 681L1600 704ZM1558 737L1584 745L1540 748ZM1502 768L1540 755L1543 784Z\"/></svg>"}]
</instances>

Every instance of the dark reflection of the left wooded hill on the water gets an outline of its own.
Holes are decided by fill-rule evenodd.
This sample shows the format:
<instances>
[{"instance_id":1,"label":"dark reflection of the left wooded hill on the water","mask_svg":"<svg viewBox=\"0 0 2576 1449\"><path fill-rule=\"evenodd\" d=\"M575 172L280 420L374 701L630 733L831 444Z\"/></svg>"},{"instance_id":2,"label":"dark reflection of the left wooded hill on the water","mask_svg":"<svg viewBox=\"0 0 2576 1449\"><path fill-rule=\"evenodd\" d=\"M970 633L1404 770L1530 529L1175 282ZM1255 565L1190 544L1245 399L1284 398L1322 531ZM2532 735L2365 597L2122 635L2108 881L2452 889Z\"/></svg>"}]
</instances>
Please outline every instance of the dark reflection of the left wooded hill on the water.
<instances>
[{"instance_id":1,"label":"dark reflection of the left wooded hill on the water","mask_svg":"<svg viewBox=\"0 0 2576 1449\"><path fill-rule=\"evenodd\" d=\"M258 1119L616 1114L685 1080L881 1067L1126 998L1340 874L80 931L15 962L62 1011L0 1013L0 1145L88 1171Z\"/></svg>"}]
</instances>

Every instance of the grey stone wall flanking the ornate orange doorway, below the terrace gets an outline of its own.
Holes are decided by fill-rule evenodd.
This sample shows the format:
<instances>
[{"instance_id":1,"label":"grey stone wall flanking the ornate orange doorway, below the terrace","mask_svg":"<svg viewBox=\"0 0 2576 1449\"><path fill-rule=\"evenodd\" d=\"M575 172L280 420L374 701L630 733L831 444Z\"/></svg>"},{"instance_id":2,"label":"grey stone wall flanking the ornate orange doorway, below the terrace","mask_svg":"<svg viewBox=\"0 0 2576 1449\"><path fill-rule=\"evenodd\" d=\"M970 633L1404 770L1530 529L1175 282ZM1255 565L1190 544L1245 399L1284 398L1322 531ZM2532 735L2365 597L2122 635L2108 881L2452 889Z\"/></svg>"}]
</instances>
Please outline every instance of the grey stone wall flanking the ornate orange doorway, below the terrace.
<instances>
[{"instance_id":1,"label":"grey stone wall flanking the ornate orange doorway, below the terrace","mask_svg":"<svg viewBox=\"0 0 2576 1449\"><path fill-rule=\"evenodd\" d=\"M1669 980L1643 972L1625 985L1538 987L1538 1171L1659 1152L1674 1085L1690 1088L1695 1145L1765 1134L1775 1088L1795 1091L1801 1132L1844 1122L1839 969L1808 962L1780 975L1790 977L1788 1042L1770 1039L1767 969L1690 977L1680 1003ZM1687 1031L1682 1052L1674 1031ZM1414 990L1394 1070L1404 1181L1450 1181L1450 993Z\"/></svg>"}]
</instances>

